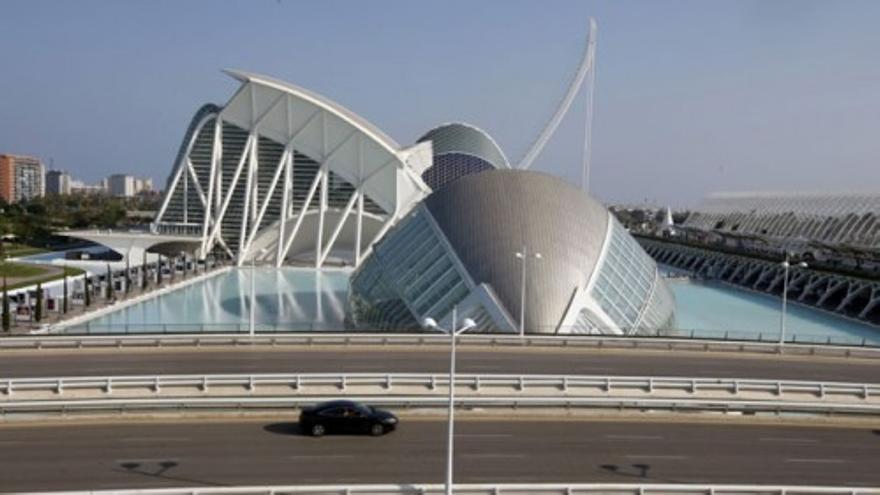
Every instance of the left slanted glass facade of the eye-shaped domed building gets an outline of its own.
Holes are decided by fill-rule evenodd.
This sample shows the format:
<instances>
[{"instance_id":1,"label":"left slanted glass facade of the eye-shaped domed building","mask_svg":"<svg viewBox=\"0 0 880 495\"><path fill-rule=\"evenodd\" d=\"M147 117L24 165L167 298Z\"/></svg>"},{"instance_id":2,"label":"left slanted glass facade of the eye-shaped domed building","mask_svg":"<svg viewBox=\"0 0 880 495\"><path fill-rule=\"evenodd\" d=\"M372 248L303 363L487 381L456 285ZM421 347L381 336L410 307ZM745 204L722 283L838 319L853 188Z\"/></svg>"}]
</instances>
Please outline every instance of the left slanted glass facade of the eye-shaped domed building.
<instances>
[{"instance_id":1,"label":"left slanted glass facade of the eye-shaped domed building","mask_svg":"<svg viewBox=\"0 0 880 495\"><path fill-rule=\"evenodd\" d=\"M355 272L349 298L355 326L393 330L425 317L439 321L470 293L428 215L417 208Z\"/></svg>"}]
</instances>

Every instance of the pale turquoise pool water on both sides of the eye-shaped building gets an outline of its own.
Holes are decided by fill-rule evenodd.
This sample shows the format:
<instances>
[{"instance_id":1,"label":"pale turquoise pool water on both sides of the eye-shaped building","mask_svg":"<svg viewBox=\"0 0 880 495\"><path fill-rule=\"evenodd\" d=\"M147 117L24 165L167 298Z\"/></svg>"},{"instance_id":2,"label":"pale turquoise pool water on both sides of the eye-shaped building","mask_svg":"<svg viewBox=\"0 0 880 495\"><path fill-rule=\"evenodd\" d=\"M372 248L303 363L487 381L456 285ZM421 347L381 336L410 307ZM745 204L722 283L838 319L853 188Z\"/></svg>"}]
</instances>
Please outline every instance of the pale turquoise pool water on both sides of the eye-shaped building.
<instances>
[{"instance_id":1,"label":"pale turquoise pool water on both sides of the eye-shaped building","mask_svg":"<svg viewBox=\"0 0 880 495\"><path fill-rule=\"evenodd\" d=\"M350 270L234 269L121 308L65 333L247 331L251 276L257 331L344 328ZM731 339L779 338L780 301L714 282L670 279L678 333ZM787 338L798 342L880 345L880 328L789 304Z\"/></svg>"}]
</instances>

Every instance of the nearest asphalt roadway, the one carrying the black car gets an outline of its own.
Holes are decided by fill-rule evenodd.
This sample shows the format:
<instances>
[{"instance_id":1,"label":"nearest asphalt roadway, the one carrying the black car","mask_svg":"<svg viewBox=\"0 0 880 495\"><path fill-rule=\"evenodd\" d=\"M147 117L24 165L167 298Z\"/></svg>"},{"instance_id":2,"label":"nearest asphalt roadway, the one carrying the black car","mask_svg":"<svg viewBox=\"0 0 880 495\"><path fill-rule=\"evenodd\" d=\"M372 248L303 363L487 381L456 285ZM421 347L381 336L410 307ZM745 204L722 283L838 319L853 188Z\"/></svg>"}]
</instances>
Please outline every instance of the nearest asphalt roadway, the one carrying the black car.
<instances>
[{"instance_id":1,"label":"nearest asphalt roadway, the one carrying the black car","mask_svg":"<svg viewBox=\"0 0 880 495\"><path fill-rule=\"evenodd\" d=\"M293 422L0 426L0 491L441 482L446 423L305 437ZM802 426L459 420L456 481L880 485L880 432Z\"/></svg>"}]
</instances>

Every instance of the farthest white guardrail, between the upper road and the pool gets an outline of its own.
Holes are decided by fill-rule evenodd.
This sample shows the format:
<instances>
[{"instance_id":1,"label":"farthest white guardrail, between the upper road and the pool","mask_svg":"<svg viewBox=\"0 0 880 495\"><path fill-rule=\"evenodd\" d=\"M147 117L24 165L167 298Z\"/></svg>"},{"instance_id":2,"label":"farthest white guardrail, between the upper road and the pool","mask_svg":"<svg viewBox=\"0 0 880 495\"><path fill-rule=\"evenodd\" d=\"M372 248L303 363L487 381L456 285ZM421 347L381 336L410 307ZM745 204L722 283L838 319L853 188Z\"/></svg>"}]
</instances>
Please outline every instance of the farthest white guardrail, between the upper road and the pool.
<instances>
[{"instance_id":1,"label":"farthest white guardrail, between the upper road and the pool","mask_svg":"<svg viewBox=\"0 0 880 495\"><path fill-rule=\"evenodd\" d=\"M646 349L672 351L751 352L827 357L880 358L880 347L823 343L778 343L673 337L463 335L461 346L550 347L572 349ZM189 333L147 335L28 335L0 338L0 351L26 349L208 347L208 346L447 346L449 337L433 334L350 333Z\"/></svg>"}]
</instances>

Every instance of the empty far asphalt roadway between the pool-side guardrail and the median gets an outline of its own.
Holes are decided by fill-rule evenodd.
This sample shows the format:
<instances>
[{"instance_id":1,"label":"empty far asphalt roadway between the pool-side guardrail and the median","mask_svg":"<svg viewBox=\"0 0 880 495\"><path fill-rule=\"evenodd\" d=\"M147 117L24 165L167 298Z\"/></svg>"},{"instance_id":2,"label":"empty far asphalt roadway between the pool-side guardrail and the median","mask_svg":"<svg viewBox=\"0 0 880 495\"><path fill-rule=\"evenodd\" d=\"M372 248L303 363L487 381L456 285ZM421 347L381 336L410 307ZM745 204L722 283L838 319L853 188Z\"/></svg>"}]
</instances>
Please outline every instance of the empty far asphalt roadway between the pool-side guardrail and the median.
<instances>
[{"instance_id":1,"label":"empty far asphalt roadway between the pool-side guardrail and the median","mask_svg":"<svg viewBox=\"0 0 880 495\"><path fill-rule=\"evenodd\" d=\"M466 349L458 371L487 374L577 374L762 378L876 383L880 364L778 356L702 355L673 352ZM442 373L448 351L361 348L109 350L9 353L0 357L0 379L215 373L413 372Z\"/></svg>"}]
</instances>

